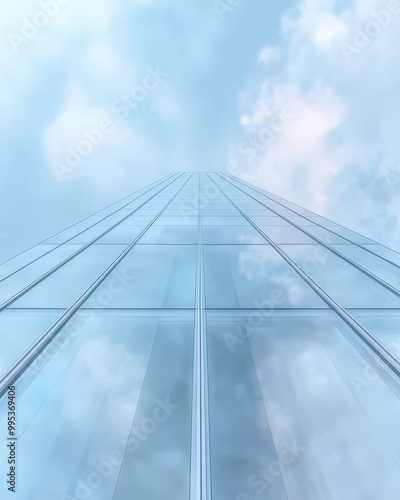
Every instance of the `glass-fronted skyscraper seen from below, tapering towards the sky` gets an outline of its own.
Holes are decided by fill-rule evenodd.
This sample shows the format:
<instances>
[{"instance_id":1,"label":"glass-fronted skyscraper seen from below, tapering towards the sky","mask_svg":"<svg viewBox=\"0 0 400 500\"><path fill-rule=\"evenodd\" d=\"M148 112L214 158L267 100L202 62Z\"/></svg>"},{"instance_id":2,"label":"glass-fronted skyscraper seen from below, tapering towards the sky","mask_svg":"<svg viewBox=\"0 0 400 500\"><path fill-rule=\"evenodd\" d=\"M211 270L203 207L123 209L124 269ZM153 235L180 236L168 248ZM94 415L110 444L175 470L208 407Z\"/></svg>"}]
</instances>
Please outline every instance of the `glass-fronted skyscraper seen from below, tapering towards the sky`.
<instances>
[{"instance_id":1,"label":"glass-fronted skyscraper seen from below, tapering towards the sky","mask_svg":"<svg viewBox=\"0 0 400 500\"><path fill-rule=\"evenodd\" d=\"M2 498L398 499L400 254L179 173L0 280Z\"/></svg>"}]
</instances>

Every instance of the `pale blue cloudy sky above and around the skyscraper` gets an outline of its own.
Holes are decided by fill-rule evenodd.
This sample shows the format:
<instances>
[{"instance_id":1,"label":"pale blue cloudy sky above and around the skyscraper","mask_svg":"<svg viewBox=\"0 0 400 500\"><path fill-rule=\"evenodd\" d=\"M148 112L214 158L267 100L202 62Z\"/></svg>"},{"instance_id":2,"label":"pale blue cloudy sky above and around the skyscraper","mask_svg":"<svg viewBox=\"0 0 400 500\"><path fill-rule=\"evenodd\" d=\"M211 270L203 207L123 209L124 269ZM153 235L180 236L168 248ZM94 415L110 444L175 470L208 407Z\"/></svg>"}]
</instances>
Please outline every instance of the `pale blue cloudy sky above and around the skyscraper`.
<instances>
[{"instance_id":1,"label":"pale blue cloudy sky above and around the skyscraper","mask_svg":"<svg viewBox=\"0 0 400 500\"><path fill-rule=\"evenodd\" d=\"M397 0L0 7L0 260L174 171L400 248Z\"/></svg>"}]
</instances>

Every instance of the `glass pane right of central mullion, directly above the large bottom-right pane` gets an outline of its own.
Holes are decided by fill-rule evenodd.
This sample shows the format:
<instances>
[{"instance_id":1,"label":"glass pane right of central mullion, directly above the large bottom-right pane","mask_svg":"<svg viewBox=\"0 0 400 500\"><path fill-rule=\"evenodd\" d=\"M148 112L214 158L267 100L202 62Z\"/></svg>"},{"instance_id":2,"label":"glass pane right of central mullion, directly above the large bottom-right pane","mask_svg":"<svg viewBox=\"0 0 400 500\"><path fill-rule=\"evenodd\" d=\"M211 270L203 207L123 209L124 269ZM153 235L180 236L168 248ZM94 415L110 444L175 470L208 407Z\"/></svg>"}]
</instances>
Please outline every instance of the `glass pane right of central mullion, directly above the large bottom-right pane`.
<instances>
[{"instance_id":1,"label":"glass pane right of central mullion, directly above the large bottom-right pane","mask_svg":"<svg viewBox=\"0 0 400 500\"><path fill-rule=\"evenodd\" d=\"M207 307L327 307L269 245L204 247Z\"/></svg>"}]
</instances>

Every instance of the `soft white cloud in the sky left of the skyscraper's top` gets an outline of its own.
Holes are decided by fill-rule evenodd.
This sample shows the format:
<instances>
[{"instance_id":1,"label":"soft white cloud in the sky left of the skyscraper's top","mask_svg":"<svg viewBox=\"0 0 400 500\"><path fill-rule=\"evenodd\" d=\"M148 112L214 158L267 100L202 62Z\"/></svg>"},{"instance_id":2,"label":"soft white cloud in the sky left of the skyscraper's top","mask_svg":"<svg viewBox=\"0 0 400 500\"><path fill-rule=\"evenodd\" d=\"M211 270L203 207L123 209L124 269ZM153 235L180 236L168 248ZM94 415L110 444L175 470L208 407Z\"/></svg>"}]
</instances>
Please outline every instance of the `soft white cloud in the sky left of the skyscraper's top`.
<instances>
[{"instance_id":1,"label":"soft white cloud in the sky left of the skyscraper's top","mask_svg":"<svg viewBox=\"0 0 400 500\"><path fill-rule=\"evenodd\" d=\"M104 120L108 120L108 133L101 130ZM92 143L89 149L88 143ZM123 182L130 162L140 161L146 149L144 139L107 107L94 105L78 87L69 89L65 106L48 127L43 145L55 179L84 178L104 187Z\"/></svg>"}]
</instances>

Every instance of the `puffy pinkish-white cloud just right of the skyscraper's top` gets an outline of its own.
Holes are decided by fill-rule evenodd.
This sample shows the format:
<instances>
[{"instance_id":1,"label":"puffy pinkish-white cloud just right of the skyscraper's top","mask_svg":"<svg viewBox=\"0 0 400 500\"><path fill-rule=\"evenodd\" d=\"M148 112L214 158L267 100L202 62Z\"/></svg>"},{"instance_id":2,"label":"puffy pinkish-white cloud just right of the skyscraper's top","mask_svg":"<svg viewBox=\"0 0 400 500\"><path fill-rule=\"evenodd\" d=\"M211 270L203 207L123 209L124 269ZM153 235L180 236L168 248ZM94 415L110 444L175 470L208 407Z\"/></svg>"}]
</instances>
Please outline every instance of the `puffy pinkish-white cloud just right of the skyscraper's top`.
<instances>
[{"instance_id":1,"label":"puffy pinkish-white cloud just right of the skyscraper's top","mask_svg":"<svg viewBox=\"0 0 400 500\"><path fill-rule=\"evenodd\" d=\"M257 130L268 123L271 110L287 106L292 115L282 131L274 135L266 147L253 172L245 173L250 182L263 179L270 191L296 199L299 186L296 173L304 168L304 183L309 206L317 212L325 209L326 191L332 178L341 166L341 155L329 145L329 134L338 126L343 116L343 108L332 89L316 84L309 92L301 92L295 84L277 85L259 100L255 110L255 120L250 119ZM264 118L264 119L263 119ZM266 168L266 166L268 166ZM268 177L264 180L264 175ZM267 183L265 182L267 181ZM306 186L305 186L306 187Z\"/></svg>"}]
</instances>

